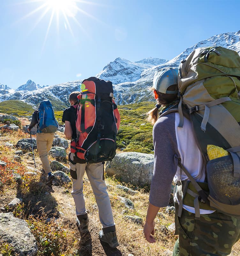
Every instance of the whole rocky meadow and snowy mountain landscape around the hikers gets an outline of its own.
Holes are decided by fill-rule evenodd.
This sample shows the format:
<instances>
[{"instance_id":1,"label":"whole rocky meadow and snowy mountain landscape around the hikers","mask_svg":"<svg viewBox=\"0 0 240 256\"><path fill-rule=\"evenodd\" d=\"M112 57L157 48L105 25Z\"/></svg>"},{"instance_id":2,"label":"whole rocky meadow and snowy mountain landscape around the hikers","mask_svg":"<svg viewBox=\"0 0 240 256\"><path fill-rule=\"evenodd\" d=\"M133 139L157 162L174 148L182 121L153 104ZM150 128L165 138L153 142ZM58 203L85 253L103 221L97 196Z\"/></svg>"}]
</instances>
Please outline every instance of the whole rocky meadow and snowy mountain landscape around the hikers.
<instances>
[{"instance_id":1,"label":"whole rocky meadow and snowy mountain landscape around the hikers","mask_svg":"<svg viewBox=\"0 0 240 256\"><path fill-rule=\"evenodd\" d=\"M178 68L181 60L199 47L222 46L240 54L239 42L240 31L226 32L192 45L171 60L149 57L132 62L118 57L98 74L93 74L113 84L114 100L121 117L116 135L116 155L143 153L138 155L139 158L149 157L152 160L149 166L153 166L153 125L147 121L146 113L156 105L150 88L153 86L154 73L159 68ZM139 159L132 161L129 169L121 169L125 177L111 171L111 168L115 168L113 162L106 162L104 166L119 246L110 248L99 240L98 232L102 226L86 173L83 194L89 217L89 233L80 236L71 196L68 161L71 140L66 140L64 136L62 116L64 109L70 106L69 94L80 91L82 81L40 86L29 77L17 89L0 84L0 256L172 255L178 238L174 235L174 185L169 205L157 213L154 228L156 243L150 244L143 234L150 182L142 177L145 173ZM42 100L51 101L59 124L52 145L59 148L59 152L51 149L48 155L55 175L52 191L41 177L42 163L36 146L36 132L30 138L27 130L32 114ZM139 177L134 177L136 179L129 178L131 168L136 173L139 171ZM148 170L149 175L152 172ZM229 255L240 256L240 241L233 246Z\"/></svg>"}]
</instances>

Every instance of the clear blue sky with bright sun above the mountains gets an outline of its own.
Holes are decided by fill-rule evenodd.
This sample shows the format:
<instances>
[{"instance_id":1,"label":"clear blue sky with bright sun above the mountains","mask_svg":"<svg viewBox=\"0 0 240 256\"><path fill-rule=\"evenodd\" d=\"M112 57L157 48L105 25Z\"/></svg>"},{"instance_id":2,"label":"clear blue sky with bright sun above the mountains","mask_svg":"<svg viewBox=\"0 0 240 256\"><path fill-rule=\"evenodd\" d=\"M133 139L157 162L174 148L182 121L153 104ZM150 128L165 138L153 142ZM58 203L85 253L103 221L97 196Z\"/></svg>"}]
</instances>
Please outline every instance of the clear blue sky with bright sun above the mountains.
<instances>
[{"instance_id":1,"label":"clear blue sky with bright sun above the mountains","mask_svg":"<svg viewBox=\"0 0 240 256\"><path fill-rule=\"evenodd\" d=\"M210 36L240 30L240 1L234 0L65 1L72 6L0 0L1 84L85 79L117 57L170 60Z\"/></svg>"}]
</instances>

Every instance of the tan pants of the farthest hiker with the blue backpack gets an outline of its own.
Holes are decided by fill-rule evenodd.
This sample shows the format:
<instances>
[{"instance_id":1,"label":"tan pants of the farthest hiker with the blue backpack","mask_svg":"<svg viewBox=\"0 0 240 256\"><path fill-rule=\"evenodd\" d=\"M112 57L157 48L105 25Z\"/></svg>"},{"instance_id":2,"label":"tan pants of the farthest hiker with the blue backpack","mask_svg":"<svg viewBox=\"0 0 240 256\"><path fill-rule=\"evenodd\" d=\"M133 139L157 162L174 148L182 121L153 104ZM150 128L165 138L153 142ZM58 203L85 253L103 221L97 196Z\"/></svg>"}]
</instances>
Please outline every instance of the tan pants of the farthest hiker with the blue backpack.
<instances>
[{"instance_id":1,"label":"tan pants of the farthest hiker with the blue backpack","mask_svg":"<svg viewBox=\"0 0 240 256\"><path fill-rule=\"evenodd\" d=\"M48 160L48 152L52 147L54 133L37 133L37 150L45 173L52 172Z\"/></svg>"}]
</instances>

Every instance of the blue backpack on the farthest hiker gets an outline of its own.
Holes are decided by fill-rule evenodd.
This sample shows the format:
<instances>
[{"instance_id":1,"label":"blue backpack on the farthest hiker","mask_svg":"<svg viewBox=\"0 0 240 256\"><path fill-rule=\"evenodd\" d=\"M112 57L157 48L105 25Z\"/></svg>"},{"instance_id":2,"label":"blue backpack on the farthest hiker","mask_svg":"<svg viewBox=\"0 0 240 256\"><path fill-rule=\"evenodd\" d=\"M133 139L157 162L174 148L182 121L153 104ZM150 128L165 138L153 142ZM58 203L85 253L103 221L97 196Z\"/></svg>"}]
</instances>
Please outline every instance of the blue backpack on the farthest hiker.
<instances>
[{"instance_id":1,"label":"blue backpack on the farthest hiker","mask_svg":"<svg viewBox=\"0 0 240 256\"><path fill-rule=\"evenodd\" d=\"M41 101L37 115L37 132L56 132L58 123L54 116L52 104L49 100Z\"/></svg>"}]
</instances>

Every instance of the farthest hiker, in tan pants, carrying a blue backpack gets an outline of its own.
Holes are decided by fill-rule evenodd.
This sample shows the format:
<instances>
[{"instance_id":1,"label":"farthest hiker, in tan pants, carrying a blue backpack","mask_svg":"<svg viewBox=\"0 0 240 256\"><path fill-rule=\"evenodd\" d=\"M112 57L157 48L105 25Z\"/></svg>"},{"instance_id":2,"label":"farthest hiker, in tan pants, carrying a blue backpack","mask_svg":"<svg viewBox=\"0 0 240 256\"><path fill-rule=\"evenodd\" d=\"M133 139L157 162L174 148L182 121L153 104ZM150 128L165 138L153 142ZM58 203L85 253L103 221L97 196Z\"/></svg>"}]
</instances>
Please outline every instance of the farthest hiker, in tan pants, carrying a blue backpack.
<instances>
[{"instance_id":1,"label":"farthest hiker, in tan pants, carrying a blue backpack","mask_svg":"<svg viewBox=\"0 0 240 256\"><path fill-rule=\"evenodd\" d=\"M47 176L47 186L52 189L54 175L49 164L48 153L52 147L54 133L58 128L58 123L54 116L52 104L49 100L40 102L39 108L33 112L32 121L28 127L31 129L37 124L37 150L42 162L42 174Z\"/></svg>"}]
</instances>

